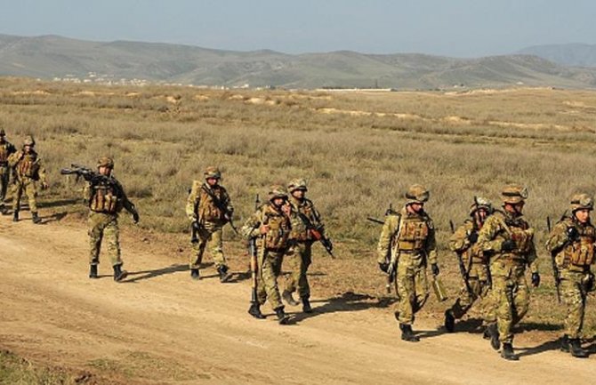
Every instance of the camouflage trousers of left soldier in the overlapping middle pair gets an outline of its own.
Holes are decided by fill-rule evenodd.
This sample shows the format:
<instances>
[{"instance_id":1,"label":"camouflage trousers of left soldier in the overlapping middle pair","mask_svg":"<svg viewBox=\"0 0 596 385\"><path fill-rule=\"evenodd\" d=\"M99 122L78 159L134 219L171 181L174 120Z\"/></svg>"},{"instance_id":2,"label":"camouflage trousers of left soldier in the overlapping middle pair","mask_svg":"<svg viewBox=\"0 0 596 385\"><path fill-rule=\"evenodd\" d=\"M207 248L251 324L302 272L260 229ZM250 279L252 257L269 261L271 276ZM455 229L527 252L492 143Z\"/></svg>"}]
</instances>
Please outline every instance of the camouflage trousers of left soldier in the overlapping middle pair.
<instances>
[{"instance_id":1,"label":"camouflage trousers of left soldier in the overlapping middle pair","mask_svg":"<svg viewBox=\"0 0 596 385\"><path fill-rule=\"evenodd\" d=\"M281 264L284 261L286 250L273 251L265 249L259 253L259 275L257 277L257 301L263 305L269 301L272 309L283 306L279 295L278 277L281 274Z\"/></svg>"}]
</instances>

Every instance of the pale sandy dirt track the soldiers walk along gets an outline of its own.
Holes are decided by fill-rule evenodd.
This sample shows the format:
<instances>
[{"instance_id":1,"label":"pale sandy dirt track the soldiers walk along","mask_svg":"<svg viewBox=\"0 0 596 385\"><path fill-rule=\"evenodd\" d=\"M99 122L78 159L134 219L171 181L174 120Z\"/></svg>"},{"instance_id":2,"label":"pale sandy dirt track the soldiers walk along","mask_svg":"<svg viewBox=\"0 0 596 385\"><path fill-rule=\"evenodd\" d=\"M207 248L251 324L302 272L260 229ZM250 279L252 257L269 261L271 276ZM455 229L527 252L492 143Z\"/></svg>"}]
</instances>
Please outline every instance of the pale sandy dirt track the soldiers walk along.
<instances>
[{"instance_id":1,"label":"pale sandy dirt track the soldiers walk along","mask_svg":"<svg viewBox=\"0 0 596 385\"><path fill-rule=\"evenodd\" d=\"M586 384L596 378L596 357L574 359L549 341L520 339L520 361L505 362L478 334L445 334L422 319L415 325L422 341L403 342L391 311L365 302L315 298L312 317L297 315L286 326L266 305L270 317L255 320L246 314L246 280L221 285L210 268L205 275L212 278L193 282L181 258L152 253L151 245L126 235L123 255L133 273L126 283L90 280L83 226L0 218L0 347L126 383ZM100 273L110 272L104 262Z\"/></svg>"}]
</instances>

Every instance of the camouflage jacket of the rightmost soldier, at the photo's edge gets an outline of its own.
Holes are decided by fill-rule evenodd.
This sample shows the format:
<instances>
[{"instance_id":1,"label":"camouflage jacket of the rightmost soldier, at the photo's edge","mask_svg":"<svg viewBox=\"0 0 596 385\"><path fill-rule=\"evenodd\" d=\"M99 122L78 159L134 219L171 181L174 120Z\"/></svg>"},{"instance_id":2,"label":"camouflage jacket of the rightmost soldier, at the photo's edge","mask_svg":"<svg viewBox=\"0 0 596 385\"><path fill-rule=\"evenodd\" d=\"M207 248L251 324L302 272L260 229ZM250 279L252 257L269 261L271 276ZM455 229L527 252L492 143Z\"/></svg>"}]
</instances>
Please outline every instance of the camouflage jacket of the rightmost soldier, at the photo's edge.
<instances>
[{"instance_id":1,"label":"camouflage jacket of the rightmost soldier, at the photo's edge","mask_svg":"<svg viewBox=\"0 0 596 385\"><path fill-rule=\"evenodd\" d=\"M571 240L568 229L575 228L579 237ZM559 269L584 271L594 263L596 229L592 223L582 224L570 217L563 218L552 228L546 241L546 250L554 254Z\"/></svg>"}]
</instances>

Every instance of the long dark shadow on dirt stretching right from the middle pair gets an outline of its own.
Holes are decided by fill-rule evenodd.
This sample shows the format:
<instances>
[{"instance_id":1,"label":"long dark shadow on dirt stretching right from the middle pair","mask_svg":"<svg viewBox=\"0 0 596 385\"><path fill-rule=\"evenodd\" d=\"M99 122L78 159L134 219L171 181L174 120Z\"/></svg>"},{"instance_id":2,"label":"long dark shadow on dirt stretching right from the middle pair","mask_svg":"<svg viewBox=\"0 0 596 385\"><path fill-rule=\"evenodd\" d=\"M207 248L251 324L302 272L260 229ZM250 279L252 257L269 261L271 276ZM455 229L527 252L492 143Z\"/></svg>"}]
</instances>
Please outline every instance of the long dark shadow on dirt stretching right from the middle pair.
<instances>
[{"instance_id":1,"label":"long dark shadow on dirt stretching right from the middle pair","mask_svg":"<svg viewBox=\"0 0 596 385\"><path fill-rule=\"evenodd\" d=\"M395 301L397 300L394 298L379 299L368 294L346 292L327 300L311 301L311 304L313 305L312 313L304 313L300 311L295 313L288 311L287 313L292 315L289 324L295 325L299 324L304 319L317 317L326 313L386 308ZM319 303L322 303L322 305L319 305ZM288 308L286 307L286 309Z\"/></svg>"}]
</instances>

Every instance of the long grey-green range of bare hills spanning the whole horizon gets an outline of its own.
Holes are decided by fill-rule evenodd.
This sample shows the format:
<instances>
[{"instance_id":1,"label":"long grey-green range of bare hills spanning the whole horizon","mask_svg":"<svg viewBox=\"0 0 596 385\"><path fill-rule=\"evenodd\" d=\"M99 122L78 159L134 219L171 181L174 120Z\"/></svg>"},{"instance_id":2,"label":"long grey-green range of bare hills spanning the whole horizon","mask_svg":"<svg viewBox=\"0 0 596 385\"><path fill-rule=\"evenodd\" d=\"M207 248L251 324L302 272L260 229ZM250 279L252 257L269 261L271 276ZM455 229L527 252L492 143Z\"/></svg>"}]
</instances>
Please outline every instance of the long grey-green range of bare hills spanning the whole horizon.
<instances>
[{"instance_id":1,"label":"long grey-green range of bare hills spanning the whole horizon","mask_svg":"<svg viewBox=\"0 0 596 385\"><path fill-rule=\"evenodd\" d=\"M0 35L0 75L288 88L596 87L596 68L569 68L528 54L479 59L350 51L290 55L60 36Z\"/></svg>"}]
</instances>

